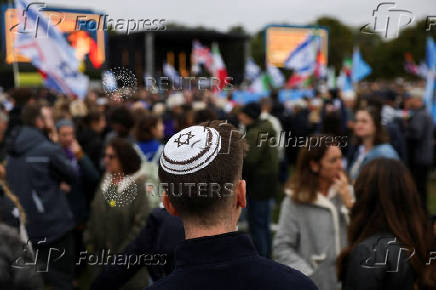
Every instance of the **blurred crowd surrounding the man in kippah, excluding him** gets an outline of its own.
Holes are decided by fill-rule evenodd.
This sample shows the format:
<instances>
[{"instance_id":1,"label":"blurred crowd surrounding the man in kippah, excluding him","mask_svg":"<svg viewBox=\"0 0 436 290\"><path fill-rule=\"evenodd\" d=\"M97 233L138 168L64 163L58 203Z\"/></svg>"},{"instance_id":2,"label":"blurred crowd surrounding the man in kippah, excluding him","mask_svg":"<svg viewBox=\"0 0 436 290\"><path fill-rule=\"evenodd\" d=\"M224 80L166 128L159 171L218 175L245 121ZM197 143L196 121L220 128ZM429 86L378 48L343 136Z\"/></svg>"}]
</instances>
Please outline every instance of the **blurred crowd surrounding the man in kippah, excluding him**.
<instances>
[{"instance_id":1,"label":"blurred crowd surrounding the man in kippah, excluding him","mask_svg":"<svg viewBox=\"0 0 436 290\"><path fill-rule=\"evenodd\" d=\"M1 250L9 266L27 274L14 277L22 288L7 289L142 289L171 272L172 247L184 233L159 209L159 156L173 134L217 119L245 132L248 208L239 229L260 255L302 271L320 289L337 289L336 259L347 244L390 233L429 250L417 240L426 239L436 213L434 127L423 95L419 84L377 82L360 83L351 96L331 89L280 102L272 91L246 104L195 88L139 88L128 97L90 90L83 100L11 89L1 96L0 240L10 247ZM259 142L264 133L268 142ZM340 142L308 148L305 140L317 136ZM374 160L374 172L362 173ZM105 268L84 251L168 256L165 266ZM424 275L423 263L412 267Z\"/></svg>"}]
</instances>

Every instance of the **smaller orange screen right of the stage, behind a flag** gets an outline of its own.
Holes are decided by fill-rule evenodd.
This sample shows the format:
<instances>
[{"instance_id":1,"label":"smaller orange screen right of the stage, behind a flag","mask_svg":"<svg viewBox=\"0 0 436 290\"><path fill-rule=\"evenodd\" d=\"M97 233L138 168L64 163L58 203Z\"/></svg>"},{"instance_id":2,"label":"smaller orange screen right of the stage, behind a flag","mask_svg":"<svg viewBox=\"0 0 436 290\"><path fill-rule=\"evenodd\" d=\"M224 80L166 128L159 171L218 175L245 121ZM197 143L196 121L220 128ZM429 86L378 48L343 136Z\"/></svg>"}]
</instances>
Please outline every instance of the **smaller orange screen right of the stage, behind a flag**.
<instances>
[{"instance_id":1,"label":"smaller orange screen right of the stage, behind a flag","mask_svg":"<svg viewBox=\"0 0 436 290\"><path fill-rule=\"evenodd\" d=\"M322 61L327 63L328 29L315 26L268 26L265 29L266 61L277 67L283 67L291 51L302 43L309 33L321 37L321 55L324 58Z\"/></svg>"}]
</instances>

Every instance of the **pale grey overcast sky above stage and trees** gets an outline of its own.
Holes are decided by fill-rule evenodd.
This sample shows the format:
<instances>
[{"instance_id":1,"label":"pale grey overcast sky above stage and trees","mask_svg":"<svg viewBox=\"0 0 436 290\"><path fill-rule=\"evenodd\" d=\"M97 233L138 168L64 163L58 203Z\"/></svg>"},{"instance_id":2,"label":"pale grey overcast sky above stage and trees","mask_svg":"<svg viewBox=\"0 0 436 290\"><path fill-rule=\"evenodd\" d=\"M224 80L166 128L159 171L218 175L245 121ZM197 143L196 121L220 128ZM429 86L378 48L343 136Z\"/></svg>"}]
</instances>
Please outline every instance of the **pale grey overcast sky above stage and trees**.
<instances>
[{"instance_id":1,"label":"pale grey overcast sky above stage and trees","mask_svg":"<svg viewBox=\"0 0 436 290\"><path fill-rule=\"evenodd\" d=\"M255 32L267 24L303 25L319 16L335 16L351 26L372 22L372 11L382 2L411 11L416 19L436 16L436 0L45 0L49 5L92 8L114 19L159 18L187 26L227 30L243 25ZM74 6L72 6L74 3Z\"/></svg>"}]
</instances>

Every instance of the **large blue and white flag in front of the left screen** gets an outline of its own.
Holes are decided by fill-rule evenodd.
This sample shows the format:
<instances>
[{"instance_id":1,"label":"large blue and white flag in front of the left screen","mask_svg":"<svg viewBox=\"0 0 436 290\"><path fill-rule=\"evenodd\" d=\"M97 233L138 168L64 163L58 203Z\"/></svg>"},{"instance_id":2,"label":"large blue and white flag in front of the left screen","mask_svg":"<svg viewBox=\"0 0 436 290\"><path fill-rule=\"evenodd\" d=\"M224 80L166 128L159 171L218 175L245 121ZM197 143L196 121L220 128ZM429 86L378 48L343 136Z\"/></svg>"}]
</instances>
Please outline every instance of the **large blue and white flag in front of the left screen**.
<instances>
[{"instance_id":1,"label":"large blue and white flag in front of the left screen","mask_svg":"<svg viewBox=\"0 0 436 290\"><path fill-rule=\"evenodd\" d=\"M19 25L14 48L42 73L46 87L84 98L89 79L79 72L74 49L35 4L15 0Z\"/></svg>"}]
</instances>

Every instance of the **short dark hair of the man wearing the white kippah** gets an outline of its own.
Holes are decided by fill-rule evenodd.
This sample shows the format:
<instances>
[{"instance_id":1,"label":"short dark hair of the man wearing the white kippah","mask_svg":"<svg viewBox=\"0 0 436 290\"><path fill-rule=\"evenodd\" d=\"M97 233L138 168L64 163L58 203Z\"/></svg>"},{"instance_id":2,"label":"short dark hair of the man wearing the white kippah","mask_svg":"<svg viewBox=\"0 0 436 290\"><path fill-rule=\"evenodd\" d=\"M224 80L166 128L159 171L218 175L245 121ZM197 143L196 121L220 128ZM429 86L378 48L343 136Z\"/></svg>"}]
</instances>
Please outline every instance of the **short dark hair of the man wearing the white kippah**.
<instances>
[{"instance_id":1,"label":"short dark hair of the man wearing the white kippah","mask_svg":"<svg viewBox=\"0 0 436 290\"><path fill-rule=\"evenodd\" d=\"M159 166L159 178L168 185L168 198L179 215L207 226L221 217L235 182L242 176L244 140L239 131L225 121L204 122L198 126L214 128L220 134L221 150L216 158L205 168L182 175L168 173Z\"/></svg>"}]
</instances>

